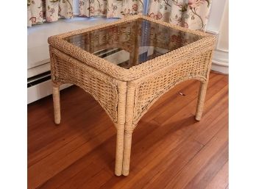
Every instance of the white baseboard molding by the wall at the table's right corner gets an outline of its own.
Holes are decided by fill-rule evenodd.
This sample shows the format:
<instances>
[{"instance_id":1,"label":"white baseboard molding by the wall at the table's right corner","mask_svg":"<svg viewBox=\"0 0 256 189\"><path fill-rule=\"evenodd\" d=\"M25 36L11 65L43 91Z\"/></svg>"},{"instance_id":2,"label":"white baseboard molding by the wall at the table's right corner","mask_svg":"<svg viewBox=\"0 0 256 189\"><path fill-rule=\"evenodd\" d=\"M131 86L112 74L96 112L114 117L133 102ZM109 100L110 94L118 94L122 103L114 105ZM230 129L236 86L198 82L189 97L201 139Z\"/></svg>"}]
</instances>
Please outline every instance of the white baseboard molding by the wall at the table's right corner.
<instances>
[{"instance_id":1,"label":"white baseboard molding by the wall at the table's right corner","mask_svg":"<svg viewBox=\"0 0 256 189\"><path fill-rule=\"evenodd\" d=\"M216 49L213 54L213 71L229 74L229 51Z\"/></svg>"}]
</instances>

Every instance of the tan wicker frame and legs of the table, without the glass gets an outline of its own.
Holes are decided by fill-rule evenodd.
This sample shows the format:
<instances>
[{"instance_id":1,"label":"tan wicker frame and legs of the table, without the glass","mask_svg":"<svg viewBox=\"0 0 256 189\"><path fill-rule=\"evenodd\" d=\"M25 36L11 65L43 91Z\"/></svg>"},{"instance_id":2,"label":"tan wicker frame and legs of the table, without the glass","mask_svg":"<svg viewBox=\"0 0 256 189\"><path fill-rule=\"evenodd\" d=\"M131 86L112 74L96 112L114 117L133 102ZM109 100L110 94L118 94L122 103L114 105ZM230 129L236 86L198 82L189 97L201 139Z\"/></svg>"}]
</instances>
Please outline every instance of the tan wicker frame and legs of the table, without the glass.
<instances>
[{"instance_id":1,"label":"tan wicker frame and legs of the table, without the glass","mask_svg":"<svg viewBox=\"0 0 256 189\"><path fill-rule=\"evenodd\" d=\"M134 31L117 29L117 35L104 36L103 40L91 35L88 40L94 43L93 49L87 44L83 44L84 49L88 49L88 51L65 40L73 35L91 31L97 32L97 30L104 27L118 26L118 24L134 21L138 18L143 18L161 26L168 26L170 29L178 29L182 32L197 35L200 39L138 65L135 64L138 62L138 54L132 54L129 62L134 66L130 68L122 68L96 57L96 55L90 53L90 50L96 51L101 49L101 46L104 46L104 48L118 48L118 46L121 46L121 49L126 51L135 51L138 41L134 40L135 38L132 38L132 36L137 34L136 29ZM127 40L125 40L124 34L129 35ZM104 40L105 38L109 41ZM115 43L120 38L124 40L124 43ZM159 47L166 46L164 40L152 40L150 43ZM60 85L71 83L90 93L115 124L117 129L115 174L127 176L129 174L132 132L141 117L160 96L180 82L197 79L201 82L201 86L196 108L196 120L199 121L202 117L215 43L216 37L213 35L156 21L143 15L129 16L111 24L52 36L49 38L49 45L51 79L54 85L55 123L60 124Z\"/></svg>"}]
</instances>

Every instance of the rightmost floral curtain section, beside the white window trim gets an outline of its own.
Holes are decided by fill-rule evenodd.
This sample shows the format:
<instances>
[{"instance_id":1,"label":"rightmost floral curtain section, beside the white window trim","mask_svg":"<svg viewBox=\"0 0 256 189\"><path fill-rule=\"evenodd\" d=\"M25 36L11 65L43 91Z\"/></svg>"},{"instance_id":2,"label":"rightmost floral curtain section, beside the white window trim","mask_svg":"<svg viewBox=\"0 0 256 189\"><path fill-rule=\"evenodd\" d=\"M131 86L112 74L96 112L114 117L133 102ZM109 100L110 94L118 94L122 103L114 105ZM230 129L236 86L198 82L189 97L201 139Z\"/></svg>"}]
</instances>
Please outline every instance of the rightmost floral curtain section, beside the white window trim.
<instances>
[{"instance_id":1,"label":"rightmost floral curtain section, beside the white window trim","mask_svg":"<svg viewBox=\"0 0 256 189\"><path fill-rule=\"evenodd\" d=\"M211 0L151 0L148 15L190 29L205 31Z\"/></svg>"}]
</instances>

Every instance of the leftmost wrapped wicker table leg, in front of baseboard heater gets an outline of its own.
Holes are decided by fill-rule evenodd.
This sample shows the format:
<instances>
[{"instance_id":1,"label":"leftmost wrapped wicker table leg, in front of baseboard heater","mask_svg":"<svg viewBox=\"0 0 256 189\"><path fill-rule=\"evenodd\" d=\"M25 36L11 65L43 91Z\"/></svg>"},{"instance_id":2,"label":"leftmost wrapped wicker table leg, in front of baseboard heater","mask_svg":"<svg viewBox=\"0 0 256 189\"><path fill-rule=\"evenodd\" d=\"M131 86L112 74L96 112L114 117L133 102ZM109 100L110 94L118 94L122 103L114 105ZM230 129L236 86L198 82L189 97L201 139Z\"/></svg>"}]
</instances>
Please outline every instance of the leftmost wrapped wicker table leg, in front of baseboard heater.
<instances>
[{"instance_id":1,"label":"leftmost wrapped wicker table leg, in front of baseboard heater","mask_svg":"<svg viewBox=\"0 0 256 189\"><path fill-rule=\"evenodd\" d=\"M60 124L60 87L53 86L52 97L54 102L54 122Z\"/></svg>"}]
</instances>

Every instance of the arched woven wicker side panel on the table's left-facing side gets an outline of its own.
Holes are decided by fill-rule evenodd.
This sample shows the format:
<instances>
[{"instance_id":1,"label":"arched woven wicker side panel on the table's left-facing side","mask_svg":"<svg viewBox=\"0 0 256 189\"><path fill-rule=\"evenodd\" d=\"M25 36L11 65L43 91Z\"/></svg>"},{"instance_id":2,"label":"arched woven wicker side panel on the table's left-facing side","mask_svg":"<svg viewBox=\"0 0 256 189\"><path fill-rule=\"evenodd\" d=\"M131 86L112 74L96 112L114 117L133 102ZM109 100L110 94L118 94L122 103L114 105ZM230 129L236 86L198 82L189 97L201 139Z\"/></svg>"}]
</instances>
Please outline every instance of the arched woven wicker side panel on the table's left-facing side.
<instances>
[{"instance_id":1,"label":"arched woven wicker side panel on the table's left-facing side","mask_svg":"<svg viewBox=\"0 0 256 189\"><path fill-rule=\"evenodd\" d=\"M115 79L106 74L99 74L93 68L80 63L74 58L61 53L57 49L51 49L52 78L58 85L71 83L90 93L117 123L118 87Z\"/></svg>"}]
</instances>

